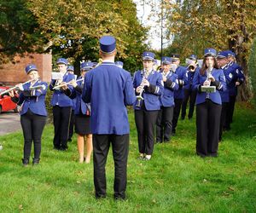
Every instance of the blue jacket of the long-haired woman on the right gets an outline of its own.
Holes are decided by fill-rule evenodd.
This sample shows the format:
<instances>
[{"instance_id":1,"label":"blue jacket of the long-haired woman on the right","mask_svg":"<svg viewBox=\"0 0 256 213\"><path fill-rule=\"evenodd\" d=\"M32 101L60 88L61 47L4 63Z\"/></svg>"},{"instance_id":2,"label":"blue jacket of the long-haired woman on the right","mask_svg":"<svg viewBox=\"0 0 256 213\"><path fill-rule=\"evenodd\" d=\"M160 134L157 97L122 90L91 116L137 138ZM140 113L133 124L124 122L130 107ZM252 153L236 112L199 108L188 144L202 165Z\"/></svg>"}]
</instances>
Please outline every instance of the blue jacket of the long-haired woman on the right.
<instances>
[{"instance_id":1,"label":"blue jacket of the long-haired woman on the right","mask_svg":"<svg viewBox=\"0 0 256 213\"><path fill-rule=\"evenodd\" d=\"M201 75L200 72L195 72L195 76L193 79L193 89L197 89L197 95L196 95L196 100L195 104L201 104L206 101L207 96L212 102L221 105L221 97L219 95L219 90L225 90L226 89L226 83L225 83L225 78L224 78L224 72L221 69L212 69L212 76L215 78L216 83L218 83L218 87L216 87L216 92L215 93L210 93L207 95L206 92L201 92L200 87L203 85L203 83L207 80L207 75Z\"/></svg>"}]
</instances>

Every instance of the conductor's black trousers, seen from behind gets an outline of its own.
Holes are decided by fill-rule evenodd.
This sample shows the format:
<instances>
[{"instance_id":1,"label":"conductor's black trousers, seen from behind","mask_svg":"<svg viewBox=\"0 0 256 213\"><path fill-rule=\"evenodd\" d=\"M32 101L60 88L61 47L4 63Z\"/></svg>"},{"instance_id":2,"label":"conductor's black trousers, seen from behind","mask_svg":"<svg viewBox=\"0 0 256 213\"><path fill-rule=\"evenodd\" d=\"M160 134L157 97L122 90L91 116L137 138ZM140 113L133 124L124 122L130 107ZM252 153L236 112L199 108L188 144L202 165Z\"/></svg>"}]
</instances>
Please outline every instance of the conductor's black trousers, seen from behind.
<instances>
[{"instance_id":1,"label":"conductor's black trousers, seen from behind","mask_svg":"<svg viewBox=\"0 0 256 213\"><path fill-rule=\"evenodd\" d=\"M116 199L125 199L127 183L127 159L129 152L129 134L93 135L94 186L96 198L106 196L106 162L110 143L114 161L113 191Z\"/></svg>"}]
</instances>

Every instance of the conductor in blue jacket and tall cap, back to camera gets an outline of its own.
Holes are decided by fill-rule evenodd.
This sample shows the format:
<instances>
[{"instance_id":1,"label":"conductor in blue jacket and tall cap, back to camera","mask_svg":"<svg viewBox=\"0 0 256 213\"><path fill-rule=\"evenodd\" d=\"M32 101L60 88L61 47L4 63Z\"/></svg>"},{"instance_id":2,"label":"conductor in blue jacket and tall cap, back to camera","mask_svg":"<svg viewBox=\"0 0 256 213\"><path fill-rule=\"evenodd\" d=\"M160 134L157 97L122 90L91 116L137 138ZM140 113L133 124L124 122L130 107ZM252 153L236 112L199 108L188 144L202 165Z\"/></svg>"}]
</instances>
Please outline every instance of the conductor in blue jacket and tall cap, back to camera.
<instances>
[{"instance_id":1,"label":"conductor in blue jacket and tall cap, back to camera","mask_svg":"<svg viewBox=\"0 0 256 213\"><path fill-rule=\"evenodd\" d=\"M125 199L130 132L126 105L132 105L136 97L131 74L114 64L116 52L115 38L102 37L102 64L85 75L83 100L91 105L96 198L106 197L105 165L111 143L114 161L113 196L114 199Z\"/></svg>"}]
</instances>

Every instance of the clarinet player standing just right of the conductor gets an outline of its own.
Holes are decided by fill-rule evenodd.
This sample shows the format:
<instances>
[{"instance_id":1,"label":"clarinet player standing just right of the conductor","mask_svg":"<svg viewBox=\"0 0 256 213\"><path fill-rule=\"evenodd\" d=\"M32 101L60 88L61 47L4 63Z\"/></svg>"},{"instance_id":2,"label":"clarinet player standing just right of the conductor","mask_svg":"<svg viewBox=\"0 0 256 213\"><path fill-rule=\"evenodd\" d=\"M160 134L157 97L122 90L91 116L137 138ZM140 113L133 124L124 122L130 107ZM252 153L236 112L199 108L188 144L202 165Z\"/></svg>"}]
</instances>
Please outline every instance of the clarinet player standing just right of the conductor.
<instances>
[{"instance_id":1,"label":"clarinet player standing just right of the conductor","mask_svg":"<svg viewBox=\"0 0 256 213\"><path fill-rule=\"evenodd\" d=\"M134 73L133 87L137 102L134 104L139 158L150 160L154 150L154 126L163 94L163 78L153 69L154 53L143 53L143 70Z\"/></svg>"}]
</instances>

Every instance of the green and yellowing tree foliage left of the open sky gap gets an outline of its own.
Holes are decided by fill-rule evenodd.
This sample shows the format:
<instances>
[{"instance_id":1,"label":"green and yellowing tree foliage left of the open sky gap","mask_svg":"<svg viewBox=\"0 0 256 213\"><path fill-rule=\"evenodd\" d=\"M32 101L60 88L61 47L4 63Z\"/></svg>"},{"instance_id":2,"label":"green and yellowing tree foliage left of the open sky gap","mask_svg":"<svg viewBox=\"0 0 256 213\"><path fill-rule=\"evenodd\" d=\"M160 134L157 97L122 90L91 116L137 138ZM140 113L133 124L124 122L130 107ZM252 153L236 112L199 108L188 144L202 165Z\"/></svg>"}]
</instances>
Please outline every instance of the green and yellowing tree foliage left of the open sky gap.
<instances>
[{"instance_id":1,"label":"green and yellowing tree foliage left of the open sky gap","mask_svg":"<svg viewBox=\"0 0 256 213\"><path fill-rule=\"evenodd\" d=\"M17 53L52 50L78 66L80 60L98 61L98 39L110 34L117 39L117 59L125 62L126 69L135 70L141 59L146 29L137 20L131 0L2 2L2 55L12 58Z\"/></svg>"}]
</instances>

